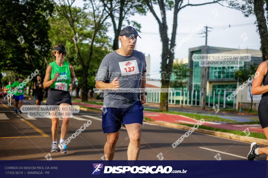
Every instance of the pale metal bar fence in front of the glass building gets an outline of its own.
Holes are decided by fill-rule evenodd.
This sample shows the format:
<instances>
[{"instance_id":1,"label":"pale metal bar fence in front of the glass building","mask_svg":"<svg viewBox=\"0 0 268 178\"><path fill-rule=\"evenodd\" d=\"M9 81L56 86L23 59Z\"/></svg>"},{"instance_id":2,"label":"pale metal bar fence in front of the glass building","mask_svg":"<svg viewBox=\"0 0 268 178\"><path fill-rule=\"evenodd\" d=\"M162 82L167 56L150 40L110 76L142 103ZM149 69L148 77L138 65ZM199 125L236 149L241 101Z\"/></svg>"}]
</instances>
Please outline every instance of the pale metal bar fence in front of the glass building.
<instances>
[{"instance_id":1,"label":"pale metal bar fence in front of the glass building","mask_svg":"<svg viewBox=\"0 0 268 178\"><path fill-rule=\"evenodd\" d=\"M220 108L235 108L236 97L232 98L230 101L226 99L228 95L232 92L208 92L206 95L206 106L213 107L216 104ZM175 90L174 92L168 93L168 104L179 104L186 106L201 106L201 92L198 90L188 91L188 90ZM146 96L147 102L160 103L160 92L148 92Z\"/></svg>"}]
</instances>

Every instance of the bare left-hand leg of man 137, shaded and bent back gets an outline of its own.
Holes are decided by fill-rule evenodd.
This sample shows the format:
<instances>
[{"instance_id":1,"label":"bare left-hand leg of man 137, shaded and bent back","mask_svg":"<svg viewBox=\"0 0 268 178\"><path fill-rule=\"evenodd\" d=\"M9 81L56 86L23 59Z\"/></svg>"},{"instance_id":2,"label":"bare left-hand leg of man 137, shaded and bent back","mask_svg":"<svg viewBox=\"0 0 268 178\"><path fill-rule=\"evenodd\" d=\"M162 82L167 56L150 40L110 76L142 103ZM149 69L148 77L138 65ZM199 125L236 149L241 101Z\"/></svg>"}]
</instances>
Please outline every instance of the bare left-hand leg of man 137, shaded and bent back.
<instances>
[{"instance_id":1,"label":"bare left-hand leg of man 137, shaded and bent back","mask_svg":"<svg viewBox=\"0 0 268 178\"><path fill-rule=\"evenodd\" d=\"M115 144L118 140L119 132L120 130L115 133L107 133L107 141L104 145L105 160L113 160L115 155Z\"/></svg>"}]
</instances>

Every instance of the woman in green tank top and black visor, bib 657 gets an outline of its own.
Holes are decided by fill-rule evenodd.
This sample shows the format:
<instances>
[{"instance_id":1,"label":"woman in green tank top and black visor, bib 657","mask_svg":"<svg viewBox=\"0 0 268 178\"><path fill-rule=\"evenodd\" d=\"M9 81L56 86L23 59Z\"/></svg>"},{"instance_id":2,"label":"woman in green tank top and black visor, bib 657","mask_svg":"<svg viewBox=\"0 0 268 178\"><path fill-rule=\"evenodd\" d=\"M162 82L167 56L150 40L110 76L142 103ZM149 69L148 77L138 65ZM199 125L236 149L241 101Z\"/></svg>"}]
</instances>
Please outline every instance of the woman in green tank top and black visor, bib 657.
<instances>
[{"instance_id":1,"label":"woman in green tank top and black visor, bib 657","mask_svg":"<svg viewBox=\"0 0 268 178\"><path fill-rule=\"evenodd\" d=\"M72 105L70 92L72 91L72 86L75 82L75 73L72 65L64 61L66 54L64 45L58 44L53 47L52 55L56 60L49 63L43 83L44 88L50 87L46 105L59 105L60 107L69 107ZM50 113L52 120L52 145L50 151L58 152L57 136L59 118L52 116L53 112ZM69 120L69 117L62 118L61 138L60 143L58 144L61 153L68 153L64 141L69 127Z\"/></svg>"}]
</instances>

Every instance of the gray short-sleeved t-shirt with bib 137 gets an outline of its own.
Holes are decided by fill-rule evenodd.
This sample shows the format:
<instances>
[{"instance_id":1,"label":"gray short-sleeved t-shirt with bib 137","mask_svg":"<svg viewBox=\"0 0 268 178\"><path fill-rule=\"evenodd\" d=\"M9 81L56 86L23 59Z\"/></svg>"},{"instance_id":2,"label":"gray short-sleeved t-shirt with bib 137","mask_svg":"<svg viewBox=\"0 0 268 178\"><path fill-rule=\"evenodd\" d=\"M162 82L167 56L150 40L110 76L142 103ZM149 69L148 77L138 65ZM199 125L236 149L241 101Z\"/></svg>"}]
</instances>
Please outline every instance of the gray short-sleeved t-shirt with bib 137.
<instances>
[{"instance_id":1,"label":"gray short-sleeved t-shirt with bib 137","mask_svg":"<svg viewBox=\"0 0 268 178\"><path fill-rule=\"evenodd\" d=\"M146 72L146 61L142 52L134 50L132 55L122 56L113 51L102 60L95 80L111 83L118 77L120 88L140 88L144 72ZM105 92L103 105L127 108L139 100L140 92Z\"/></svg>"}]
</instances>

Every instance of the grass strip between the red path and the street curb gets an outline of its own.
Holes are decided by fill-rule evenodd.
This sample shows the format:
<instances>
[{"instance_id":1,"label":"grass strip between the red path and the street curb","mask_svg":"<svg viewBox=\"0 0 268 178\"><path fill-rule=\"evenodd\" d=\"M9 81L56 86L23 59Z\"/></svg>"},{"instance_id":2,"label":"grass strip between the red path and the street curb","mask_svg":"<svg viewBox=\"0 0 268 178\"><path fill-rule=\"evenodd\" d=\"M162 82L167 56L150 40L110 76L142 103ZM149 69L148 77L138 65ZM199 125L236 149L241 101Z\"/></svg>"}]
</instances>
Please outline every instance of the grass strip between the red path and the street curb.
<instances>
[{"instance_id":1,"label":"grass strip between the red path and the street curb","mask_svg":"<svg viewBox=\"0 0 268 178\"><path fill-rule=\"evenodd\" d=\"M194 126L191 124L181 124L180 125L185 125L185 126ZM218 128L213 128L213 127L209 127L209 126L199 126L199 129L206 129L206 130L214 130L214 131L219 131L219 132L226 132L226 133L233 133L236 135L241 135L241 136L245 136L245 133L240 131L240 130L228 130L228 129L218 129ZM250 132L251 137L254 138L259 138L259 139L266 139L266 136L263 133L256 133L256 132Z\"/></svg>"}]
</instances>

